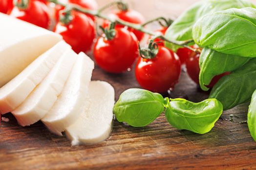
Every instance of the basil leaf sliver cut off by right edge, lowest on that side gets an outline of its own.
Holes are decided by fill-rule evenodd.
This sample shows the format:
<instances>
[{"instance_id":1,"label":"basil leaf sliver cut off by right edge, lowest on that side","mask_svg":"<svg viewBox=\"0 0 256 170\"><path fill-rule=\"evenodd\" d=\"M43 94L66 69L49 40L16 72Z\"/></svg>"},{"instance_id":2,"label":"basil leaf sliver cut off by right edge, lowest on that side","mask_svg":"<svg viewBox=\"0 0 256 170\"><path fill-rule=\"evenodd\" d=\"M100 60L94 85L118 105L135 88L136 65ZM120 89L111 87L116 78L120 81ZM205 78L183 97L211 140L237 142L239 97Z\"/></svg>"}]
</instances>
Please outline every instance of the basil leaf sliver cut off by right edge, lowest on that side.
<instances>
[{"instance_id":1,"label":"basil leaf sliver cut off by right edge, lowest on that side","mask_svg":"<svg viewBox=\"0 0 256 170\"><path fill-rule=\"evenodd\" d=\"M256 141L256 90L254 91L251 104L248 110L247 124L251 133L251 136Z\"/></svg>"}]
</instances>

